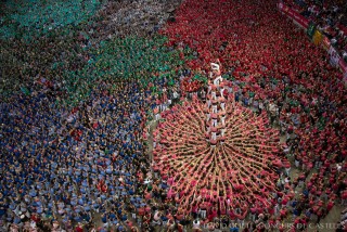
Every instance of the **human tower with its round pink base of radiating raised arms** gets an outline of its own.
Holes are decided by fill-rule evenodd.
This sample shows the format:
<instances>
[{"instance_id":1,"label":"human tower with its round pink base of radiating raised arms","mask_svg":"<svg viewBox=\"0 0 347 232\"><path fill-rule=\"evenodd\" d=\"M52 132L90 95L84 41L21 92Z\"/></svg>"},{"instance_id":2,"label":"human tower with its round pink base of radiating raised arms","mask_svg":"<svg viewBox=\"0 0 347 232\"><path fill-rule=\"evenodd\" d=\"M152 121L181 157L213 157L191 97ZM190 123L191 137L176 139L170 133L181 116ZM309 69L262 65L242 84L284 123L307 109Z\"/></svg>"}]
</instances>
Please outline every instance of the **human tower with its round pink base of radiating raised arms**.
<instances>
[{"instance_id":1,"label":"human tower with its round pink base of radiating raised arms","mask_svg":"<svg viewBox=\"0 0 347 232\"><path fill-rule=\"evenodd\" d=\"M184 208L194 202L223 208L260 203L271 205L283 167L279 131L266 114L235 103L211 64L207 100L197 96L162 114L153 132L154 170L167 179L168 199Z\"/></svg>"}]
</instances>

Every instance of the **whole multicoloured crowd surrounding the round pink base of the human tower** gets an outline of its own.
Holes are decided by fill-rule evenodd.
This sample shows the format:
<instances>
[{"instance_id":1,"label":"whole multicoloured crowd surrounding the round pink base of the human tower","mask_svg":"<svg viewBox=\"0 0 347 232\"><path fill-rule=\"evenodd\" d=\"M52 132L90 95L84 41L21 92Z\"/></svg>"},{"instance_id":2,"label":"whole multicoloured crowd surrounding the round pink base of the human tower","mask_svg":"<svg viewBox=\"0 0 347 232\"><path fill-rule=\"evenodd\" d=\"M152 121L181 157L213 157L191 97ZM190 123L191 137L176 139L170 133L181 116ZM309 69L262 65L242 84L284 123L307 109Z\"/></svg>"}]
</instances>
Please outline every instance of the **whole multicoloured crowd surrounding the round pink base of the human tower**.
<instances>
[{"instance_id":1,"label":"whole multicoloured crowd surrounding the round pink base of the human tower","mask_svg":"<svg viewBox=\"0 0 347 232\"><path fill-rule=\"evenodd\" d=\"M152 37L158 27L144 25L143 34L107 27L116 17L110 9L118 11L121 3L88 22L53 28L33 44L1 37L2 229L264 231L269 224L284 230L282 222L293 221L299 230L346 205L342 74L304 31L283 23L275 3L187 0L159 30L168 39ZM163 25L169 14L159 15ZM126 37L132 33L146 36ZM222 211L192 202L183 210L184 192L169 191L175 177L152 173L146 123L159 120L192 91L204 95L203 83L192 81L190 88L184 78L207 75L216 59L232 83L230 101L268 114L285 138L283 155L300 172L292 178L279 168L272 207L259 203ZM182 70L185 64L189 70Z\"/></svg>"}]
</instances>

